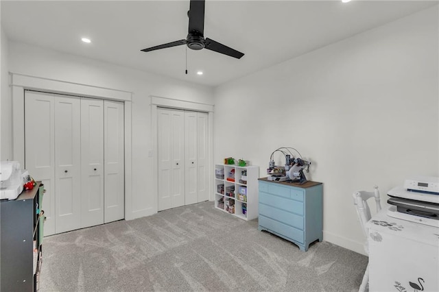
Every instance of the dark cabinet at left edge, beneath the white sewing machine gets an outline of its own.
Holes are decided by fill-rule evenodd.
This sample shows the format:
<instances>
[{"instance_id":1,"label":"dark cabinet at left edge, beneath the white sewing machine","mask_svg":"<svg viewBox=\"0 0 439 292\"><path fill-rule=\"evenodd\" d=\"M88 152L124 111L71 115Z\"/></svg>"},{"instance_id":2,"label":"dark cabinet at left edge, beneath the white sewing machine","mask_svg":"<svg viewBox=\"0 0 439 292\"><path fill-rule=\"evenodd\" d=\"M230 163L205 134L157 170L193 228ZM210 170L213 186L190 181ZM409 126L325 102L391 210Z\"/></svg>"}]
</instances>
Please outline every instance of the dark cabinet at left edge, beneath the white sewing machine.
<instances>
[{"instance_id":1,"label":"dark cabinet at left edge, beneath the white sewing machine","mask_svg":"<svg viewBox=\"0 0 439 292\"><path fill-rule=\"evenodd\" d=\"M36 291L43 252L44 186L0 201L0 291Z\"/></svg>"}]
</instances>

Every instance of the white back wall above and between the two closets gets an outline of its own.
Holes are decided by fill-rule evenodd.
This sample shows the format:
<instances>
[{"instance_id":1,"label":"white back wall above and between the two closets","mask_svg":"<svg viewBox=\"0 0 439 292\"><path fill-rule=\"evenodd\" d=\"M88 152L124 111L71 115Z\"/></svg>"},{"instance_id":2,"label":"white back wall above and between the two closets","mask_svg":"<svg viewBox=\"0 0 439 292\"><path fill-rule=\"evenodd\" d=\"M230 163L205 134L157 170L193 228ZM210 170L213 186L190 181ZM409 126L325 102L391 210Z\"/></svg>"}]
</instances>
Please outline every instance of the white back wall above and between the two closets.
<instances>
[{"instance_id":1,"label":"white back wall above and between the two closets","mask_svg":"<svg viewBox=\"0 0 439 292\"><path fill-rule=\"evenodd\" d=\"M212 89L12 40L9 42L9 52L9 69L13 73L133 93L132 214L126 217L157 212L157 195L153 191L153 162L156 157L148 157L149 150L153 149L150 96L213 104Z\"/></svg>"}]
</instances>

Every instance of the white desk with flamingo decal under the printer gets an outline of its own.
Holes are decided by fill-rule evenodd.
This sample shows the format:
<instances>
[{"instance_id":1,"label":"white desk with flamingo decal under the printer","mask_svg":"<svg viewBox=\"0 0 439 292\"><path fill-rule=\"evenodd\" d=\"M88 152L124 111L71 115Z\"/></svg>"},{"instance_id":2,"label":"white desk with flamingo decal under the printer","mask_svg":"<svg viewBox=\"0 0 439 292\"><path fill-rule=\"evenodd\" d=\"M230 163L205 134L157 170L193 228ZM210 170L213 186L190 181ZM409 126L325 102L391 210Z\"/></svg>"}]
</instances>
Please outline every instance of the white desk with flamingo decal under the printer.
<instances>
[{"instance_id":1,"label":"white desk with flamingo decal under the printer","mask_svg":"<svg viewBox=\"0 0 439 292\"><path fill-rule=\"evenodd\" d=\"M439 228L386 213L382 210L367 223L369 291L438 292Z\"/></svg>"}]
</instances>

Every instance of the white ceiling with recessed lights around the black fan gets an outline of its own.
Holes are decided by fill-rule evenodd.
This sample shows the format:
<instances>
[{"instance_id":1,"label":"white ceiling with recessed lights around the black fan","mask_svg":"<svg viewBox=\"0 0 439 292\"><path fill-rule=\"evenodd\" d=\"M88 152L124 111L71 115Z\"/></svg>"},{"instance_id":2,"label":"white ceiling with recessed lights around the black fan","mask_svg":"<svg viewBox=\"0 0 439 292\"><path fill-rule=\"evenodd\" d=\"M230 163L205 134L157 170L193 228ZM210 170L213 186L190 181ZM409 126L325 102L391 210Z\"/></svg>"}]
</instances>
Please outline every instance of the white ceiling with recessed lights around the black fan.
<instances>
[{"instance_id":1,"label":"white ceiling with recessed lights around the black fan","mask_svg":"<svg viewBox=\"0 0 439 292\"><path fill-rule=\"evenodd\" d=\"M186 46L140 50L186 38L189 0L0 3L1 26L10 40L217 86L438 2L206 0L204 37L245 56L187 49L187 75ZM83 36L93 42L81 42Z\"/></svg>"}]
</instances>

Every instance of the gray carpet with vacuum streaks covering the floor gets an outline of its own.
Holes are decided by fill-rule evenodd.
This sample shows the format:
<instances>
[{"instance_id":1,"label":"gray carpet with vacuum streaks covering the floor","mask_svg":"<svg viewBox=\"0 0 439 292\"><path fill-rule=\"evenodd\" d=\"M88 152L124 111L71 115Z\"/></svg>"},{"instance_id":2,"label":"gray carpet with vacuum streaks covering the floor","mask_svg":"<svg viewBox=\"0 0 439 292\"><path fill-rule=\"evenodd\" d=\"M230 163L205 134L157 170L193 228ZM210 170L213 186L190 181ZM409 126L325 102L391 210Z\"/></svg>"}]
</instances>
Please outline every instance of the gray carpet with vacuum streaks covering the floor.
<instances>
[{"instance_id":1,"label":"gray carpet with vacuum streaks covering the floor","mask_svg":"<svg viewBox=\"0 0 439 292\"><path fill-rule=\"evenodd\" d=\"M47 236L40 291L358 291L368 258L308 252L203 202Z\"/></svg>"}]
</instances>

